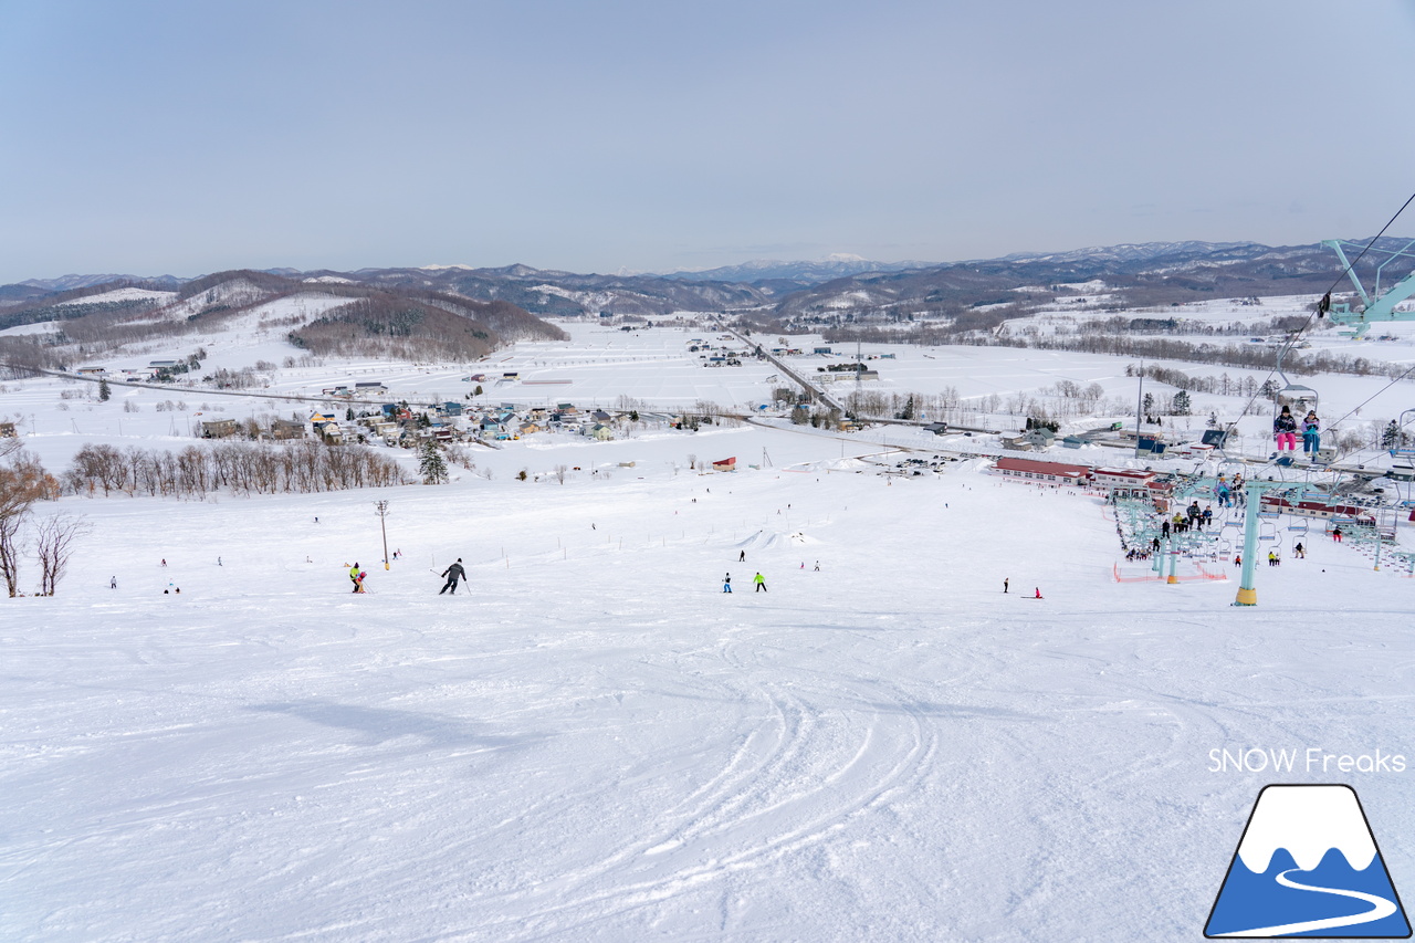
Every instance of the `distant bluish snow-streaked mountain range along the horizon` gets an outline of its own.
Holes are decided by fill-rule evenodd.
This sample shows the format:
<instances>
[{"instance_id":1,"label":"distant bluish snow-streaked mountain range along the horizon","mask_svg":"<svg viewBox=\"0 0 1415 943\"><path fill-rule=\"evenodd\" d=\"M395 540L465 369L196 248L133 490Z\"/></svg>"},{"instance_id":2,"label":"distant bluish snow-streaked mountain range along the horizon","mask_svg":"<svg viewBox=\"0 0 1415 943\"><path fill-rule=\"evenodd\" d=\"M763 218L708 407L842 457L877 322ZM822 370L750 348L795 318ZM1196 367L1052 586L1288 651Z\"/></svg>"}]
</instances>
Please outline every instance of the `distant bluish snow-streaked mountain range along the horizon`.
<instances>
[{"instance_id":1,"label":"distant bluish snow-streaked mountain range along the horizon","mask_svg":"<svg viewBox=\"0 0 1415 943\"><path fill-rule=\"evenodd\" d=\"M1385 238L1378 249L1408 241ZM1374 270L1378 253L1361 262ZM1401 266L1392 266L1401 269ZM1385 278L1397 278L1409 266ZM870 262L831 256L819 262L760 261L702 272L669 275L580 275L525 265L473 269L426 266L355 272L270 269L290 280L355 285L402 293L437 293L477 302L507 302L535 316L594 317L737 312L763 320L916 312L958 312L1033 297L1074 293L1099 280L1118 303L1143 306L1211 297L1324 292L1341 275L1336 255L1316 244L1266 246L1257 242L1146 242L1092 246L1067 252L1017 252L968 262ZM190 279L69 275L0 286L0 312L34 307L48 295L112 282L171 289ZM1339 286L1344 290L1344 286Z\"/></svg>"}]
</instances>

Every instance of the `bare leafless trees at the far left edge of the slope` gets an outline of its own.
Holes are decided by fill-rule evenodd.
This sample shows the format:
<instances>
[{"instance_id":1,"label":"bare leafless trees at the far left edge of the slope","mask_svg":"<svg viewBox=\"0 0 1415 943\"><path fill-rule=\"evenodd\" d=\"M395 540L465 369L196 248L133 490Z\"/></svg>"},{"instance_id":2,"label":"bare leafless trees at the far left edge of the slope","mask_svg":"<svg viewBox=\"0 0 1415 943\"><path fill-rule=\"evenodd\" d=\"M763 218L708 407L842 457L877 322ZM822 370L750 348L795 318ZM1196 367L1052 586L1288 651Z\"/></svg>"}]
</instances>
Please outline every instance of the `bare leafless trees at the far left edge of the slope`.
<instances>
[{"instance_id":1,"label":"bare leafless trees at the far left edge of the slope","mask_svg":"<svg viewBox=\"0 0 1415 943\"><path fill-rule=\"evenodd\" d=\"M25 453L18 439L0 439L0 578L11 598L20 595L20 562L31 544L40 562L35 595L52 596L74 541L86 530L81 518L65 514L33 520L37 503L58 497L59 483L40 460Z\"/></svg>"}]
</instances>

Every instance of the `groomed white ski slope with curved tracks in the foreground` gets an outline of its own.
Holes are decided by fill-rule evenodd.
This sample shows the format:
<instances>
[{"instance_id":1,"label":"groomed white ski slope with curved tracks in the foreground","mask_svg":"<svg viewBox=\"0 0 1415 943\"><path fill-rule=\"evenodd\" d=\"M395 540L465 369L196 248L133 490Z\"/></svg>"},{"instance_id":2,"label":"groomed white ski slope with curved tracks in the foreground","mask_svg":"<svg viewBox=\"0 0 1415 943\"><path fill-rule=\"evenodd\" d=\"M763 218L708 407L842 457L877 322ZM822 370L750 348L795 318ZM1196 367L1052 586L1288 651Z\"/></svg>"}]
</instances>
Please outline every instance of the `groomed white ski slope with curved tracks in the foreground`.
<instances>
[{"instance_id":1,"label":"groomed white ski slope with curved tracks in the foreground","mask_svg":"<svg viewBox=\"0 0 1415 943\"><path fill-rule=\"evenodd\" d=\"M1200 939L1268 782L1351 783L1415 886L1412 773L1210 769L1415 755L1415 581L1312 539L1234 609L1115 583L1091 496L716 443L65 498L92 531L58 596L0 600L0 939Z\"/></svg>"}]
</instances>

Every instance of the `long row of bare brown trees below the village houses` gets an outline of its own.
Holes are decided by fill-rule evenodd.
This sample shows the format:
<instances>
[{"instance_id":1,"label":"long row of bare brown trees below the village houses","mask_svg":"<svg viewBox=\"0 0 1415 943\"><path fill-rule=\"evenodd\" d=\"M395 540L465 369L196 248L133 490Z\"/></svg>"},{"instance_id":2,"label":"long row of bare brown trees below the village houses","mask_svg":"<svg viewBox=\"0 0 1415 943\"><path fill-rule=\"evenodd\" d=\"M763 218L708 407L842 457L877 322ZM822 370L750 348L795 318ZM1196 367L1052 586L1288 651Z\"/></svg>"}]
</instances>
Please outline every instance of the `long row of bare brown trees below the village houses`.
<instances>
[{"instance_id":1,"label":"long row of bare brown trees below the village houses","mask_svg":"<svg viewBox=\"0 0 1415 943\"><path fill-rule=\"evenodd\" d=\"M224 442L209 447L117 449L86 445L64 473L64 488L89 497L149 494L201 498L212 491L233 494L308 494L345 488L408 484L393 459L362 446L324 446L316 440L289 445Z\"/></svg>"}]
</instances>

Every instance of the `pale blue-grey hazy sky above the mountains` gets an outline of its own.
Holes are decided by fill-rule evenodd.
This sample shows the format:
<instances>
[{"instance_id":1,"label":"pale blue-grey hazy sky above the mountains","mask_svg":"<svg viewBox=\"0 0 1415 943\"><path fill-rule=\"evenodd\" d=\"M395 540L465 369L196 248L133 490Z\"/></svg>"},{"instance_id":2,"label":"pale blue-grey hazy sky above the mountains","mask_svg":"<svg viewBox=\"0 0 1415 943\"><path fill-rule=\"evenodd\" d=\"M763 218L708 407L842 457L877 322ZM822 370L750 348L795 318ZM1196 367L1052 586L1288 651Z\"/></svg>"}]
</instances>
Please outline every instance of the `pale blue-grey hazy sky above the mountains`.
<instances>
[{"instance_id":1,"label":"pale blue-grey hazy sky above the mountains","mask_svg":"<svg viewBox=\"0 0 1415 943\"><path fill-rule=\"evenodd\" d=\"M1412 0L0 0L0 283L1361 236L1412 50Z\"/></svg>"}]
</instances>

